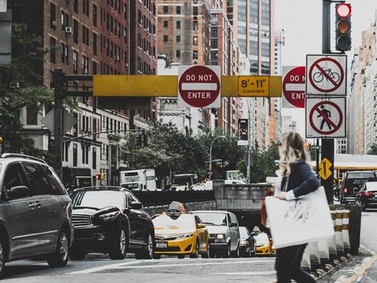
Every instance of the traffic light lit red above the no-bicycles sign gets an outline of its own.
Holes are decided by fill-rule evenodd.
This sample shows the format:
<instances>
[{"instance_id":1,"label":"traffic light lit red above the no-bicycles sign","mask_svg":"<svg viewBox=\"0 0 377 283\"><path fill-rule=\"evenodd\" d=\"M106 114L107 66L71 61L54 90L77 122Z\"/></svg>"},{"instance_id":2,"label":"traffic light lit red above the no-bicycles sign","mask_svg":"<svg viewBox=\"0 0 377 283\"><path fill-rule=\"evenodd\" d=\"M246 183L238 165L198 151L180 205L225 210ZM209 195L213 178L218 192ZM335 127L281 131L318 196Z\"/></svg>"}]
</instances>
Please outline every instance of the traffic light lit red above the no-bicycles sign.
<instances>
[{"instance_id":1,"label":"traffic light lit red above the no-bicycles sign","mask_svg":"<svg viewBox=\"0 0 377 283\"><path fill-rule=\"evenodd\" d=\"M338 51L351 50L351 4L337 4L335 46Z\"/></svg>"}]
</instances>

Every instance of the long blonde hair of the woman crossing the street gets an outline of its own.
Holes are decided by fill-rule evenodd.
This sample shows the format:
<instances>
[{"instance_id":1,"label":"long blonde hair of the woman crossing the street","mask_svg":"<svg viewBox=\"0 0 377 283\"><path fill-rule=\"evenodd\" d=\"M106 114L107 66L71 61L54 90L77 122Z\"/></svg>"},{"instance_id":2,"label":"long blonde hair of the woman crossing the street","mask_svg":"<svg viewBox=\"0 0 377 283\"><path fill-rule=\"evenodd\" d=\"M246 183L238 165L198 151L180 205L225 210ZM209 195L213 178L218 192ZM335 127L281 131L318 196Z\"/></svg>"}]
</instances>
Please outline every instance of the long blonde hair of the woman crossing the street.
<instances>
[{"instance_id":1,"label":"long blonde hair of the woman crossing the street","mask_svg":"<svg viewBox=\"0 0 377 283\"><path fill-rule=\"evenodd\" d=\"M304 149L303 138L296 132L288 132L282 135L282 145L279 148L280 169L283 177L291 174L291 164L298 159L307 162L310 166L310 157Z\"/></svg>"}]
</instances>

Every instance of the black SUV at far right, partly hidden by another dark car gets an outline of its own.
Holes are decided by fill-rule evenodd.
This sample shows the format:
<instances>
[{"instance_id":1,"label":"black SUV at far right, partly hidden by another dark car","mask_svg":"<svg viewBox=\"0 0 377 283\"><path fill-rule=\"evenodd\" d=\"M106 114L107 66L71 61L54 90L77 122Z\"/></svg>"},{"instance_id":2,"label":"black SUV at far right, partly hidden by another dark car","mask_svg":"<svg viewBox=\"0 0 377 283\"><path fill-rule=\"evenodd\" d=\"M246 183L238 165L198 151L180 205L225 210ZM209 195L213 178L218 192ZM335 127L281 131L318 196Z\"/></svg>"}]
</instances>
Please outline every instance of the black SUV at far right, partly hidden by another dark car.
<instances>
[{"instance_id":1,"label":"black SUV at far right, partly hidden by another dark car","mask_svg":"<svg viewBox=\"0 0 377 283\"><path fill-rule=\"evenodd\" d=\"M356 194L365 182L377 181L377 174L373 171L350 171L343 175L340 203L355 204Z\"/></svg>"}]
</instances>

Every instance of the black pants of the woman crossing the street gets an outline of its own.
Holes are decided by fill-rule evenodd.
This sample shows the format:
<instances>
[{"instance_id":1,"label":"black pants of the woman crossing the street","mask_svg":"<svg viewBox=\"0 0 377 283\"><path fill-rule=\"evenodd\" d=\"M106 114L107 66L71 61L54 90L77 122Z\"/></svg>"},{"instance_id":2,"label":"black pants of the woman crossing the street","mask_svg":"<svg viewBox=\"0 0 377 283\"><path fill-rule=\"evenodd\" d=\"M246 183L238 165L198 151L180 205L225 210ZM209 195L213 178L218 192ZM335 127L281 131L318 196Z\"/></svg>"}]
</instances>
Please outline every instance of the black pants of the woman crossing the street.
<instances>
[{"instance_id":1,"label":"black pants of the woman crossing the street","mask_svg":"<svg viewBox=\"0 0 377 283\"><path fill-rule=\"evenodd\" d=\"M278 283L290 283L291 279L298 283L314 283L316 280L301 269L301 260L307 244L291 246L276 250L275 269Z\"/></svg>"}]
</instances>

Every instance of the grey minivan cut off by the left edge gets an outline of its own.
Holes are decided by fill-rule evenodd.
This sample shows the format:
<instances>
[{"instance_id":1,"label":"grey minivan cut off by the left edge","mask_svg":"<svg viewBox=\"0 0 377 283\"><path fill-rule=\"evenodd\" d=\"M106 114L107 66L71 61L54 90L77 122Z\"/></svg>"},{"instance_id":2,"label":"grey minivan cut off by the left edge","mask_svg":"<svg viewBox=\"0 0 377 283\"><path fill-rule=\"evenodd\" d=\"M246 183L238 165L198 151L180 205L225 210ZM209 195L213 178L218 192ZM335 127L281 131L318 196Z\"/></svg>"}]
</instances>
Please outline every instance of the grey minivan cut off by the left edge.
<instances>
[{"instance_id":1,"label":"grey minivan cut off by the left edge","mask_svg":"<svg viewBox=\"0 0 377 283\"><path fill-rule=\"evenodd\" d=\"M0 276L6 262L45 257L49 266L68 262L73 241L72 206L54 169L39 158L0 158Z\"/></svg>"}]
</instances>

